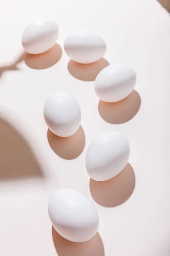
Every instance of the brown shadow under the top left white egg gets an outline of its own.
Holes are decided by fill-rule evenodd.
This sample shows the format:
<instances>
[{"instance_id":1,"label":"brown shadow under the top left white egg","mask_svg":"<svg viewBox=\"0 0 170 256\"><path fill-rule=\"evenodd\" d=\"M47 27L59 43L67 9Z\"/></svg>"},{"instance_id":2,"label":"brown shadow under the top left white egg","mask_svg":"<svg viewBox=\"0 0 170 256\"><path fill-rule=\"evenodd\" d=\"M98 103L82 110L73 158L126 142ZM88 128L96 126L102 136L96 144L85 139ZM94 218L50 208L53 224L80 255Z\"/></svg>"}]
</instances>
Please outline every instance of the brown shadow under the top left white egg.
<instances>
[{"instance_id":1,"label":"brown shadow under the top left white egg","mask_svg":"<svg viewBox=\"0 0 170 256\"><path fill-rule=\"evenodd\" d=\"M55 44L54 47L41 54L26 53L25 63L28 67L40 70L52 67L60 60L61 56L62 49L59 44Z\"/></svg>"}]
</instances>

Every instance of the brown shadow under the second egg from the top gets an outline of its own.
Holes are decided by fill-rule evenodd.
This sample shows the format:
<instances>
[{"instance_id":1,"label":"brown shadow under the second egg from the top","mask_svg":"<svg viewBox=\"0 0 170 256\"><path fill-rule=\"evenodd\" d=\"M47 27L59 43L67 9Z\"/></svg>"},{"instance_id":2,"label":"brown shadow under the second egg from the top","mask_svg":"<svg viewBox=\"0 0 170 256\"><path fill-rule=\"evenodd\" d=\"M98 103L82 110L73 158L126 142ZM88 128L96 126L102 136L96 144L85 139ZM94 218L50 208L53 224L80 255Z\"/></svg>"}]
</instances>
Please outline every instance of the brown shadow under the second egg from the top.
<instances>
[{"instance_id":1,"label":"brown shadow under the second egg from the top","mask_svg":"<svg viewBox=\"0 0 170 256\"><path fill-rule=\"evenodd\" d=\"M68 71L71 76L82 81L95 81L96 76L105 67L109 66L108 61L105 58L101 58L91 64L80 64L73 60L68 62Z\"/></svg>"}]
</instances>

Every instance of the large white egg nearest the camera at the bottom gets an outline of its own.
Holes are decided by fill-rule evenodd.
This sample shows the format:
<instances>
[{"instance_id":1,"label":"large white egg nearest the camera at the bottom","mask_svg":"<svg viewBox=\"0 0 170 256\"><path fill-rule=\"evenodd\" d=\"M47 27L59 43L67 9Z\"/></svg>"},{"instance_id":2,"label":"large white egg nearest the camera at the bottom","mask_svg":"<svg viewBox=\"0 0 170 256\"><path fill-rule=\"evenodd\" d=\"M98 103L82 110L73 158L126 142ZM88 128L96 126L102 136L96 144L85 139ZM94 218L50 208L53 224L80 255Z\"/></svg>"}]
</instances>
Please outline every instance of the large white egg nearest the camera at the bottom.
<instances>
[{"instance_id":1,"label":"large white egg nearest the camera at the bottom","mask_svg":"<svg viewBox=\"0 0 170 256\"><path fill-rule=\"evenodd\" d=\"M91 239L99 227L99 215L94 205L72 189L54 192L48 202L48 214L55 230L73 242Z\"/></svg>"}]
</instances>

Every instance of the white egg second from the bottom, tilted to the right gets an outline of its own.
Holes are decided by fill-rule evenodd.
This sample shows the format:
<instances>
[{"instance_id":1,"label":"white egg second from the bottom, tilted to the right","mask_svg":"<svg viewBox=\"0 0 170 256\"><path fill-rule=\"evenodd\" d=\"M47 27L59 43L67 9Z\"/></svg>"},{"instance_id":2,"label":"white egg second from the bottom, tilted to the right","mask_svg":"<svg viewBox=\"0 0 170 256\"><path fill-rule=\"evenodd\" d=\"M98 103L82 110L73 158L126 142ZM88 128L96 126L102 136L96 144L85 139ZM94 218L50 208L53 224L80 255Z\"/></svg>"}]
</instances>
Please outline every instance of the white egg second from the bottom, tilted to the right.
<instances>
[{"instance_id":1,"label":"white egg second from the bottom, tilted to the right","mask_svg":"<svg viewBox=\"0 0 170 256\"><path fill-rule=\"evenodd\" d=\"M118 131L107 131L96 137L89 146L86 169L93 180L109 180L125 168L129 156L127 138Z\"/></svg>"}]
</instances>

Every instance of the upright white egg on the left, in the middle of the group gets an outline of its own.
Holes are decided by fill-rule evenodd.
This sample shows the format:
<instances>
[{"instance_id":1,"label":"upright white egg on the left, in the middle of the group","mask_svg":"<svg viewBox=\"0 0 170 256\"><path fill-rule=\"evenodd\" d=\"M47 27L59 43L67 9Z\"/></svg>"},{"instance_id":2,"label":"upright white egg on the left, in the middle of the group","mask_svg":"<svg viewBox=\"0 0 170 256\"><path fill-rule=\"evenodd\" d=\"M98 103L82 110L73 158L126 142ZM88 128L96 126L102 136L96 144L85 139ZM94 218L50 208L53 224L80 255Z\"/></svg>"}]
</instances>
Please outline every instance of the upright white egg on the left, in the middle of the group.
<instances>
[{"instance_id":1,"label":"upright white egg on the left, in the middle of the group","mask_svg":"<svg viewBox=\"0 0 170 256\"><path fill-rule=\"evenodd\" d=\"M45 102L43 113L48 128L59 137L73 135L81 123L79 104L69 93L51 95Z\"/></svg>"}]
</instances>

